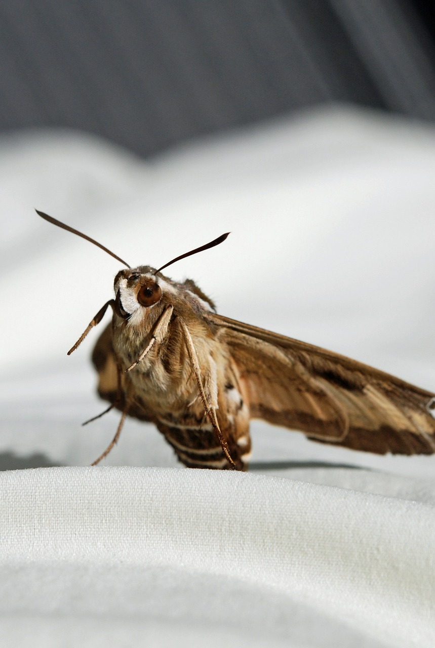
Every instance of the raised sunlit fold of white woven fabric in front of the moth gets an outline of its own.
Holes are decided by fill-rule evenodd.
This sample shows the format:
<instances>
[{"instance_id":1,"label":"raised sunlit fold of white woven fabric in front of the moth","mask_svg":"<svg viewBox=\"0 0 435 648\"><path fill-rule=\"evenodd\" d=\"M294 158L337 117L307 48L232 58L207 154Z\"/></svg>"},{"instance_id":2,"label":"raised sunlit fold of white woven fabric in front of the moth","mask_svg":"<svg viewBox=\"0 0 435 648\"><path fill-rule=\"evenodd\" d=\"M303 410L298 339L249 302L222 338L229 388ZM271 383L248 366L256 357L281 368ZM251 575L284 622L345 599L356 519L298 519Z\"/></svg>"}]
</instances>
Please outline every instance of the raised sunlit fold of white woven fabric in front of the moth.
<instances>
[{"instance_id":1,"label":"raised sunlit fold of white woven fabric in front of the moth","mask_svg":"<svg viewBox=\"0 0 435 648\"><path fill-rule=\"evenodd\" d=\"M181 568L298 599L386 645L435 640L429 504L207 470L51 468L0 480L1 570Z\"/></svg>"}]
</instances>

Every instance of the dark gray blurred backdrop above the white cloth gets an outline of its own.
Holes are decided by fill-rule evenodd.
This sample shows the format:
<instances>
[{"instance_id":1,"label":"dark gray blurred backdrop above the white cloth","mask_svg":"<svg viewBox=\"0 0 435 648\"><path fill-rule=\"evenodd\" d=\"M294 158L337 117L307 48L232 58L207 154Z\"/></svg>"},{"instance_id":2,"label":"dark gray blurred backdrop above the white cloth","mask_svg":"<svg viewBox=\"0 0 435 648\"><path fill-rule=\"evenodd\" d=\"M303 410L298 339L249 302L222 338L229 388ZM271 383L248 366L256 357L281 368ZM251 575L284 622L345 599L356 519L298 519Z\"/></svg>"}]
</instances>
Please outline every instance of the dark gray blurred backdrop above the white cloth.
<instances>
[{"instance_id":1,"label":"dark gray blurred backdrop above the white cloth","mask_svg":"<svg viewBox=\"0 0 435 648\"><path fill-rule=\"evenodd\" d=\"M433 11L410 0L1 0L0 131L150 156L324 102L435 118Z\"/></svg>"}]
</instances>

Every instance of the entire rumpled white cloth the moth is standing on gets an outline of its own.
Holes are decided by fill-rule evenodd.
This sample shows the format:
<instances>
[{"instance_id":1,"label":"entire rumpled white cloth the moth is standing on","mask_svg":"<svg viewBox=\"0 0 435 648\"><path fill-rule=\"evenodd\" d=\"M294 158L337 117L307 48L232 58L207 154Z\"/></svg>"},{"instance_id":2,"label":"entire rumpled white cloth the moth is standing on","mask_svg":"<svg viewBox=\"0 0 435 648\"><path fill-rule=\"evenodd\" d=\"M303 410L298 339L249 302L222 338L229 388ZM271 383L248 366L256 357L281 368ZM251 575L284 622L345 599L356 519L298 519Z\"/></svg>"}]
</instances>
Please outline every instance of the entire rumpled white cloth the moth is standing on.
<instances>
[{"instance_id":1,"label":"entire rumpled white cloth the moth is standing on","mask_svg":"<svg viewBox=\"0 0 435 648\"><path fill-rule=\"evenodd\" d=\"M0 467L47 466L0 474L2 645L432 647L434 457L253 422L252 472L194 471L128 421L86 467L118 417L80 428L104 408L91 336L65 351L119 267L32 207L131 264L231 230L170 274L222 314L435 391L435 128L336 109L152 163L17 133L0 170Z\"/></svg>"}]
</instances>

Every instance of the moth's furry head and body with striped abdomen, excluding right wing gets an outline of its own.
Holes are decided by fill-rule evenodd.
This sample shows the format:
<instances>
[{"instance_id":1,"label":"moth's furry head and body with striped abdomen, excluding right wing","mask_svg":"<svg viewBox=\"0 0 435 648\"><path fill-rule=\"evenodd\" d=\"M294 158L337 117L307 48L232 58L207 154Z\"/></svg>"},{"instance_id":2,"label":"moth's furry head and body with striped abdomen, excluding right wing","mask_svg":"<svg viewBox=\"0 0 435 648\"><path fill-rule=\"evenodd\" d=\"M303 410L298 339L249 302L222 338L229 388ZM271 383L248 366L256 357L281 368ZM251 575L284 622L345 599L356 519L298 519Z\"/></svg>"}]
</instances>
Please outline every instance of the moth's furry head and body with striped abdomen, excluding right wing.
<instances>
[{"instance_id":1,"label":"moth's furry head and body with striped abdomen, excluding right wing","mask_svg":"<svg viewBox=\"0 0 435 648\"><path fill-rule=\"evenodd\" d=\"M140 303L144 287L148 287L151 302L153 293L156 295L155 303ZM94 352L100 395L120 410L128 406L130 414L153 421L186 465L229 467L200 398L185 342L187 328L206 402L215 412L231 458L243 469L250 451L247 395L242 396L242 381L228 347L202 317L204 312L214 312L213 302L193 281L177 284L156 275L149 266L119 272L114 290L115 307L108 329L111 335L103 334ZM145 357L126 371L152 343L153 336L156 341ZM108 349L109 339L112 349ZM119 365L116 382L112 355L115 366ZM112 375L110 388L108 371Z\"/></svg>"}]
</instances>

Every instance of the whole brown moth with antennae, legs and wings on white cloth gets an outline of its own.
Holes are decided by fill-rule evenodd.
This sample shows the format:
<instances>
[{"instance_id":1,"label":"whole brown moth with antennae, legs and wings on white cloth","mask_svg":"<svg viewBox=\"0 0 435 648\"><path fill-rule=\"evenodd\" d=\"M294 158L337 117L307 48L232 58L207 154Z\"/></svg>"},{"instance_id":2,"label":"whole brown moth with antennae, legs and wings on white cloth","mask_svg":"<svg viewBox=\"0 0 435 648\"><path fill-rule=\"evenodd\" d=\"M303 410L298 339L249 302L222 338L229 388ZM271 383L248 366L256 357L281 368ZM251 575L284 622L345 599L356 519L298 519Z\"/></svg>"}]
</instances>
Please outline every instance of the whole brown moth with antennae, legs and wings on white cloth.
<instances>
[{"instance_id":1,"label":"whole brown moth with antennae, legs and wings on white cloth","mask_svg":"<svg viewBox=\"0 0 435 648\"><path fill-rule=\"evenodd\" d=\"M130 266L100 243L40 211L48 222L104 249L126 266L114 297L68 354L102 320L92 360L98 393L127 416L152 421L187 467L246 470L250 419L309 439L377 454L435 452L435 395L356 360L218 315L192 281L161 272L220 244L228 234L156 269ZM95 417L97 418L97 417ZM93 420L93 419L91 419Z\"/></svg>"}]
</instances>

